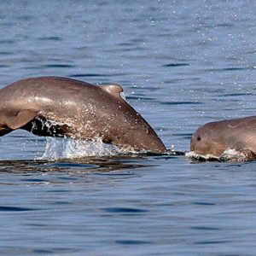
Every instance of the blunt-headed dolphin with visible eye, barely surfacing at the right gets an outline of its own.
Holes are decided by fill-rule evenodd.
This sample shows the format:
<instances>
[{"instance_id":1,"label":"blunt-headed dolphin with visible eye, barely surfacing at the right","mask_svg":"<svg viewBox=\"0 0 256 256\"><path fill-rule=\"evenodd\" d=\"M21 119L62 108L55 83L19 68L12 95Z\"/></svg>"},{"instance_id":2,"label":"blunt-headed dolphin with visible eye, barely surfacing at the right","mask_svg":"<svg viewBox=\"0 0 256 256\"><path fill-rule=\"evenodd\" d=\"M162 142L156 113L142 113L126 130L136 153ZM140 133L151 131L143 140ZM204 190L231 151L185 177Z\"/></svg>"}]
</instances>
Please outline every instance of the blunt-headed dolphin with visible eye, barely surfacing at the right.
<instances>
[{"instance_id":1,"label":"blunt-headed dolphin with visible eye, barely surfacing at the right","mask_svg":"<svg viewBox=\"0 0 256 256\"><path fill-rule=\"evenodd\" d=\"M197 154L221 157L227 149L256 158L256 116L207 123L191 138L190 150Z\"/></svg>"}]
</instances>

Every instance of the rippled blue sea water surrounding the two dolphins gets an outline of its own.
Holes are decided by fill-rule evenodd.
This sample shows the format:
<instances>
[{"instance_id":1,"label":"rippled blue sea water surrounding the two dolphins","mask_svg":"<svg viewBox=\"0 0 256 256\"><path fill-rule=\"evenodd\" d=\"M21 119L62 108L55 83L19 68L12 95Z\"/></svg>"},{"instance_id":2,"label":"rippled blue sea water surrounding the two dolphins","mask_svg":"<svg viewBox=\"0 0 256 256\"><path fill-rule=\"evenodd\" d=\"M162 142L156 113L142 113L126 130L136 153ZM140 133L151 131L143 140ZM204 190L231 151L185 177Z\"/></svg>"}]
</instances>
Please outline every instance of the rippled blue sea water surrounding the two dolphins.
<instances>
[{"instance_id":1,"label":"rippled blue sea water surrounding the two dolphins","mask_svg":"<svg viewBox=\"0 0 256 256\"><path fill-rule=\"evenodd\" d=\"M189 151L199 125L255 114L255 38L249 0L1 1L0 85L121 84L167 148ZM52 160L68 142L26 131L0 145L2 255L255 255L256 162Z\"/></svg>"}]
</instances>

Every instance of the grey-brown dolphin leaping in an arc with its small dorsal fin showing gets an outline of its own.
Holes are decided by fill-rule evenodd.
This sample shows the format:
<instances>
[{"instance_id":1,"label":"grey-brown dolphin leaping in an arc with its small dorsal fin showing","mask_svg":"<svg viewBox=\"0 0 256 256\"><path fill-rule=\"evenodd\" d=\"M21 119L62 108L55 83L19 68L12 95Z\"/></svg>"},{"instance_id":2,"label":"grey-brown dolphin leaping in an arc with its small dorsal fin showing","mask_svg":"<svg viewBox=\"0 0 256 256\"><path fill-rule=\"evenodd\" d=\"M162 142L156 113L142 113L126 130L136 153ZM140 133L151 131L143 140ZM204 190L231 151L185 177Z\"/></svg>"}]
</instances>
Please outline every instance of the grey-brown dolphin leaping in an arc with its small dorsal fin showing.
<instances>
[{"instance_id":1,"label":"grey-brown dolphin leaping in an arc with its small dorsal fin showing","mask_svg":"<svg viewBox=\"0 0 256 256\"><path fill-rule=\"evenodd\" d=\"M120 148L166 152L118 84L97 86L61 77L22 79L0 90L0 136L16 129L38 136L93 139Z\"/></svg>"}]
</instances>

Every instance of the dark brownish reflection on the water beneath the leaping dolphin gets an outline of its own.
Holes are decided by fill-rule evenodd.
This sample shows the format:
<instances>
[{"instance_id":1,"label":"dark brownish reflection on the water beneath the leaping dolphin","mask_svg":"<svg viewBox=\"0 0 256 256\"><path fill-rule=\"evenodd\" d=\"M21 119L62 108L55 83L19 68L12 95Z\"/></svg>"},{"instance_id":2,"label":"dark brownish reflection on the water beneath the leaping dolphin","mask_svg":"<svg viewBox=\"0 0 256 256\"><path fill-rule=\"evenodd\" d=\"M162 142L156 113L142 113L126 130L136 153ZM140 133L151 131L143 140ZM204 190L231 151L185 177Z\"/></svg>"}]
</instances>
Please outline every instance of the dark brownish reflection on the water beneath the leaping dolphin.
<instances>
[{"instance_id":1,"label":"dark brownish reflection on the water beneath the leaping dolphin","mask_svg":"<svg viewBox=\"0 0 256 256\"><path fill-rule=\"evenodd\" d=\"M1 160L0 172L113 172L155 166L149 161L152 157L169 159L178 155L184 154L170 151L167 154L122 154L61 160Z\"/></svg>"}]
</instances>

